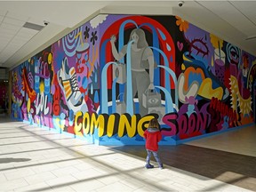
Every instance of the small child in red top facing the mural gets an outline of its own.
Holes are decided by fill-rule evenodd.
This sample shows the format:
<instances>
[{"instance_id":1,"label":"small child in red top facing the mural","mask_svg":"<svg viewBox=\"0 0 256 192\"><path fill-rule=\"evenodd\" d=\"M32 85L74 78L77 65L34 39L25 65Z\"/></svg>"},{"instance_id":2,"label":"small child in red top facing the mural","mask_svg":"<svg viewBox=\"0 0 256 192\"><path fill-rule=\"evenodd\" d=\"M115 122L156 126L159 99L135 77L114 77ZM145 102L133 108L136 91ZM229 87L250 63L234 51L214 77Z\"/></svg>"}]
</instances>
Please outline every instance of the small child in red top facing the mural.
<instances>
[{"instance_id":1,"label":"small child in red top facing the mural","mask_svg":"<svg viewBox=\"0 0 256 192\"><path fill-rule=\"evenodd\" d=\"M146 150L148 153L147 159L146 159L146 165L145 167L147 169L154 168L153 164L149 164L150 157L153 154L153 156L156 159L156 162L160 169L163 169L163 164L157 154L158 151L158 142L162 140L162 135L159 130L159 124L156 118L153 118L150 120L148 124L148 129L143 134L144 138L146 139Z\"/></svg>"}]
</instances>

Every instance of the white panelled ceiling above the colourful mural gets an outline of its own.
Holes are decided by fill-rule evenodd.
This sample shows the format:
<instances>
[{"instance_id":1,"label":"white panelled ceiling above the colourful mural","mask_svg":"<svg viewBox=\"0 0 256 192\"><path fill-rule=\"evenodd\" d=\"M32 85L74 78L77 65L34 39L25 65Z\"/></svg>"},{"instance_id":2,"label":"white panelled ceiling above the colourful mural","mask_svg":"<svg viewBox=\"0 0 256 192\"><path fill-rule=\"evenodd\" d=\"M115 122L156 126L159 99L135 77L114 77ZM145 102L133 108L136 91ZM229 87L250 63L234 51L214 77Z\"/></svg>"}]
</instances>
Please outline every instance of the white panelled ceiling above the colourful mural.
<instances>
[{"instance_id":1,"label":"white panelled ceiling above the colourful mural","mask_svg":"<svg viewBox=\"0 0 256 192\"><path fill-rule=\"evenodd\" d=\"M179 15L256 55L256 1L179 2L0 0L0 68L28 60L99 13ZM42 29L24 28L26 22Z\"/></svg>"}]
</instances>

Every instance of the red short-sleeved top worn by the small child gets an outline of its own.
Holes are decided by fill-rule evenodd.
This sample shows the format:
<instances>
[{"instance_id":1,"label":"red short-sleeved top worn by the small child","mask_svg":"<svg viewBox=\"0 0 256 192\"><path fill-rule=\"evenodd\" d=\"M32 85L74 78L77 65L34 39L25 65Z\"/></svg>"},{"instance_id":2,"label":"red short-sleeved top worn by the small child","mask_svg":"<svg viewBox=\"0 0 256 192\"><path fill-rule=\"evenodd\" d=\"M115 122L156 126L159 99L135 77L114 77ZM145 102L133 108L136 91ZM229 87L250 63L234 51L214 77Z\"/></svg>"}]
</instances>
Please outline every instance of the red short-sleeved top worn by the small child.
<instances>
[{"instance_id":1,"label":"red short-sleeved top worn by the small child","mask_svg":"<svg viewBox=\"0 0 256 192\"><path fill-rule=\"evenodd\" d=\"M161 132L156 128L148 128L143 136L146 139L146 148L148 150L157 151L158 142L162 140Z\"/></svg>"}]
</instances>

